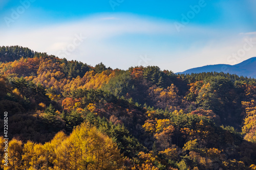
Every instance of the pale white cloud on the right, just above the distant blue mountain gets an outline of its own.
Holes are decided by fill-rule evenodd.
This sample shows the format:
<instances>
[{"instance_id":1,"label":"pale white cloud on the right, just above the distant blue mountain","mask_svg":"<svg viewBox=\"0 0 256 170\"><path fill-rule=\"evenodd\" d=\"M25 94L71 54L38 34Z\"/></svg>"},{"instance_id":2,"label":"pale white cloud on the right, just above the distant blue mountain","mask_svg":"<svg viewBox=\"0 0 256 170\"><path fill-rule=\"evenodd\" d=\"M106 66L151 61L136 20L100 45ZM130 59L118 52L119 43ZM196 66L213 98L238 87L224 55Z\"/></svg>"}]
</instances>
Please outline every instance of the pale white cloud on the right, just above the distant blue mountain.
<instances>
[{"instance_id":1,"label":"pale white cloud on the right, just above the distant blue mountain","mask_svg":"<svg viewBox=\"0 0 256 170\"><path fill-rule=\"evenodd\" d=\"M248 41L252 43L248 44ZM174 68L175 72L181 72L204 65L234 65L251 57L256 57L256 36L225 37L219 40L212 40L201 48L190 48L174 55L180 57L176 60L165 62L162 68ZM168 65L166 63L171 64Z\"/></svg>"}]
</instances>

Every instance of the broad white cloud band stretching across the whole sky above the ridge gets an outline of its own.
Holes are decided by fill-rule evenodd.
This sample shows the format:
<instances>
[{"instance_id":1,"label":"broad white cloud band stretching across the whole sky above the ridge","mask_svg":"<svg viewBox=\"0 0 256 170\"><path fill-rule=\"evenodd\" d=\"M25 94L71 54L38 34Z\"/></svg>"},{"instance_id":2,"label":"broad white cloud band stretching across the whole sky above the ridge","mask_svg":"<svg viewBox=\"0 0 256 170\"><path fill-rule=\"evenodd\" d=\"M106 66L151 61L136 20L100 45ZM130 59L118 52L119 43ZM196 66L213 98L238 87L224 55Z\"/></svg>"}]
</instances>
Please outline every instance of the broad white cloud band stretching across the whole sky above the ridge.
<instances>
[{"instance_id":1,"label":"broad white cloud band stretching across the whole sky above the ridge","mask_svg":"<svg viewBox=\"0 0 256 170\"><path fill-rule=\"evenodd\" d=\"M225 30L195 25L187 25L178 33L173 21L123 14L95 15L68 23L33 29L30 26L0 29L0 32L0 45L21 45L56 56L64 56L66 52L69 60L80 60L91 65L102 61L107 66L122 69L139 65L140 56L147 55L151 59L148 65L158 65L175 72L206 64L230 64L227 57L243 47L243 38L255 33L234 36ZM79 43L77 36L80 35L87 39ZM135 38L132 41L123 39L130 36ZM147 37L146 40L141 38L143 36ZM166 43L172 42L169 44L175 44L175 40L180 38L184 44L177 42L178 47L173 47L156 37L167 37L169 41ZM147 41L151 41L150 47L145 45ZM141 44L134 48L138 42ZM160 48L161 45L165 47ZM255 47L243 59L253 57L253 54L256 54Z\"/></svg>"}]
</instances>

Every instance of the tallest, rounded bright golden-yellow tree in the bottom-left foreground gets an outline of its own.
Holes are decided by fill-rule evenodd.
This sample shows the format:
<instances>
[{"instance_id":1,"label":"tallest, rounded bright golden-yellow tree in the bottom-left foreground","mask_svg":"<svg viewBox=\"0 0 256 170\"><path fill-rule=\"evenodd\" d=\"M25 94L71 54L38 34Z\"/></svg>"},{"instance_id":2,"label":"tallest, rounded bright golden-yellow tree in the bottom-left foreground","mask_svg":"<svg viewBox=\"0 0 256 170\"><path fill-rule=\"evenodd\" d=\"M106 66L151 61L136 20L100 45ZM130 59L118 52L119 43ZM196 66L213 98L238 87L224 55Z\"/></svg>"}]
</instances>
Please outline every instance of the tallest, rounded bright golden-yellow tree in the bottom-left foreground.
<instances>
[{"instance_id":1,"label":"tallest, rounded bright golden-yellow tree in the bottom-left foreground","mask_svg":"<svg viewBox=\"0 0 256 170\"><path fill-rule=\"evenodd\" d=\"M72 132L69 140L74 142L71 152L78 151L76 154L78 167L85 169L118 169L122 167L123 158L117 145L95 127L83 123ZM72 162L74 163L74 161Z\"/></svg>"}]
</instances>

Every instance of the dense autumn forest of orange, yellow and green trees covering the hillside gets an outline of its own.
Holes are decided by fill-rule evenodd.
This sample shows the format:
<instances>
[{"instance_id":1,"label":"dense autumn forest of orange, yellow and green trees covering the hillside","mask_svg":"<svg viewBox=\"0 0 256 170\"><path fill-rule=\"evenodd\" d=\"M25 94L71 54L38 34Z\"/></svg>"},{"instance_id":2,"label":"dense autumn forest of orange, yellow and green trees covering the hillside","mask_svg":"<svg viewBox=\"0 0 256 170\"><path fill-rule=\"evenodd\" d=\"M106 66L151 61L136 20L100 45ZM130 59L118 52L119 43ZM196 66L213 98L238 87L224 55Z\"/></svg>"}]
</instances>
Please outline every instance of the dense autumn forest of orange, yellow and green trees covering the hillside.
<instances>
[{"instance_id":1,"label":"dense autumn forest of orange, yellow and green trees covering the hillside","mask_svg":"<svg viewBox=\"0 0 256 170\"><path fill-rule=\"evenodd\" d=\"M0 169L256 169L255 79L2 46L0 110Z\"/></svg>"}]
</instances>

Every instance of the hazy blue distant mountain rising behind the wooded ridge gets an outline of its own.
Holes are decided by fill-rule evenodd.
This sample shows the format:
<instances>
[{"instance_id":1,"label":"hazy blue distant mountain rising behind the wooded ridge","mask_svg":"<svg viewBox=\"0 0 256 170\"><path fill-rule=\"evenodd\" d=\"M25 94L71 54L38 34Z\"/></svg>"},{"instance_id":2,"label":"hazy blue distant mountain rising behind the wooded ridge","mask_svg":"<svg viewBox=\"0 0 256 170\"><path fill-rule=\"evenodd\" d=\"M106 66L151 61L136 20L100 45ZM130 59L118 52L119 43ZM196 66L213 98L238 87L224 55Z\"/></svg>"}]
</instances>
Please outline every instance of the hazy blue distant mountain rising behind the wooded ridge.
<instances>
[{"instance_id":1,"label":"hazy blue distant mountain rising behind the wooded ridge","mask_svg":"<svg viewBox=\"0 0 256 170\"><path fill-rule=\"evenodd\" d=\"M202 67L191 68L183 72L177 72L177 74L191 74L191 73L214 72L214 71L235 74L238 76L256 78L256 57L252 57L236 65L228 65L228 64L206 65Z\"/></svg>"}]
</instances>

